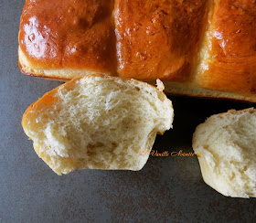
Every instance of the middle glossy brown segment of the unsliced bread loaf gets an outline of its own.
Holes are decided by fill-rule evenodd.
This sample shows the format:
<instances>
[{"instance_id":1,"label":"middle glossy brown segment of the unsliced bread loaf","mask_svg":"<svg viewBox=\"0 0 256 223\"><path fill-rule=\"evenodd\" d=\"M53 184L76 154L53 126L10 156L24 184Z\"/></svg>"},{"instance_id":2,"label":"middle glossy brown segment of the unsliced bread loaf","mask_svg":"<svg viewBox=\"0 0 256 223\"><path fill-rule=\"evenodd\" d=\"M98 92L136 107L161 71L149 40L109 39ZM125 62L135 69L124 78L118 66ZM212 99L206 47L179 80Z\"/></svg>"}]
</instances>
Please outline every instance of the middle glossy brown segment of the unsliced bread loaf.
<instances>
[{"instance_id":1,"label":"middle glossy brown segment of the unsliced bread loaf","mask_svg":"<svg viewBox=\"0 0 256 223\"><path fill-rule=\"evenodd\" d=\"M118 73L138 80L190 80L206 0L117 0Z\"/></svg>"}]
</instances>

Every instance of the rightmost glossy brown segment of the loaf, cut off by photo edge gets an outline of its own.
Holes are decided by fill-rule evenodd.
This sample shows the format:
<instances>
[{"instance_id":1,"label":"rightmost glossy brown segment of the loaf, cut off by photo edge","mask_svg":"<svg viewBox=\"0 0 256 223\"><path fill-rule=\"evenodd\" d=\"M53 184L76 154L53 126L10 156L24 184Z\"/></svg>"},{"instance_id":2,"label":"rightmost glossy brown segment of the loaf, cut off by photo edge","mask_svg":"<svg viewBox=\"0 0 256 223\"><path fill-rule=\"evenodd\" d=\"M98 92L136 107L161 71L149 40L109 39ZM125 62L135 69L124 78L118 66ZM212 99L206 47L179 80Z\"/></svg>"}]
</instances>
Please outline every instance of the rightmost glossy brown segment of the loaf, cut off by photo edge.
<instances>
[{"instance_id":1,"label":"rightmost glossy brown segment of the loaf, cut off by photo edge","mask_svg":"<svg viewBox=\"0 0 256 223\"><path fill-rule=\"evenodd\" d=\"M255 98L255 2L218 0L214 1L212 10L196 83L208 90Z\"/></svg>"}]
</instances>

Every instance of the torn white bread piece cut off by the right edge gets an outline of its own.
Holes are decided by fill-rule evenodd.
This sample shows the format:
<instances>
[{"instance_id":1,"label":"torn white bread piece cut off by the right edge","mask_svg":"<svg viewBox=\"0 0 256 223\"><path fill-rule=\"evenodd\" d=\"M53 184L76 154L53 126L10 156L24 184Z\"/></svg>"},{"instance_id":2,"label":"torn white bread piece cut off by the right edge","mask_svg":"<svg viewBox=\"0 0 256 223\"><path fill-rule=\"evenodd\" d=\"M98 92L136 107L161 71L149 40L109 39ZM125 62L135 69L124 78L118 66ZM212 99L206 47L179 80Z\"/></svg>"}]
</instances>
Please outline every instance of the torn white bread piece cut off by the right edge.
<instances>
[{"instance_id":1,"label":"torn white bread piece cut off by the right edge","mask_svg":"<svg viewBox=\"0 0 256 223\"><path fill-rule=\"evenodd\" d=\"M256 197L256 110L212 115L197 126L193 149L204 181L224 196Z\"/></svg>"}]
</instances>

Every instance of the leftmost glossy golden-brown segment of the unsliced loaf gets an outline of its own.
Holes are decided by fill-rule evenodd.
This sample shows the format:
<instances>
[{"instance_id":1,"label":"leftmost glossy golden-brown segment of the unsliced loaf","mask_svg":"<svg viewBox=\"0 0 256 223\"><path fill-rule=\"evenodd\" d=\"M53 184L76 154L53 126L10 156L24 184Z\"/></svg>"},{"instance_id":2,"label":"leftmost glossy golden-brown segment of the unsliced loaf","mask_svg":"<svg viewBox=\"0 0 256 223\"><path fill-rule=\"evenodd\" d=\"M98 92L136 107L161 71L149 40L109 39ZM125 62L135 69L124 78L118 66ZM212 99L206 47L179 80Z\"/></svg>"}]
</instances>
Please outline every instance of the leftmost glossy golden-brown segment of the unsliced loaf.
<instances>
[{"instance_id":1,"label":"leftmost glossy golden-brown segment of the unsliced loaf","mask_svg":"<svg viewBox=\"0 0 256 223\"><path fill-rule=\"evenodd\" d=\"M19 32L21 68L36 75L45 69L46 77L52 77L50 69L114 74L112 10L112 0L27 0ZM65 70L59 74L66 76L74 78Z\"/></svg>"}]
</instances>

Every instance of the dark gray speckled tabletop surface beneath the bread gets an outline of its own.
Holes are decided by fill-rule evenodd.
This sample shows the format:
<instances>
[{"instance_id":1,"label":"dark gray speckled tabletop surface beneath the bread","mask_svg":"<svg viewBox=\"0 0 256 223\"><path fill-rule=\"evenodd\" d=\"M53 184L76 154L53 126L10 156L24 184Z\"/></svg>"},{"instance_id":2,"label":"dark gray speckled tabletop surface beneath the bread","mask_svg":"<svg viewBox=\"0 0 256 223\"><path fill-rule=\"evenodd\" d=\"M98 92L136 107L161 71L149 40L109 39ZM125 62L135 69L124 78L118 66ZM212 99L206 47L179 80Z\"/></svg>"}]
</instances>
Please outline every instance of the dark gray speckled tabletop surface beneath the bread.
<instances>
[{"instance_id":1,"label":"dark gray speckled tabletop surface beneath the bread","mask_svg":"<svg viewBox=\"0 0 256 223\"><path fill-rule=\"evenodd\" d=\"M140 172L54 174L20 125L27 106L59 82L21 74L19 16L25 1L0 0L0 222L255 222L256 199L221 196L201 177L196 157L150 157ZM250 103L170 97L174 130L154 149L191 152L198 123Z\"/></svg>"}]
</instances>

